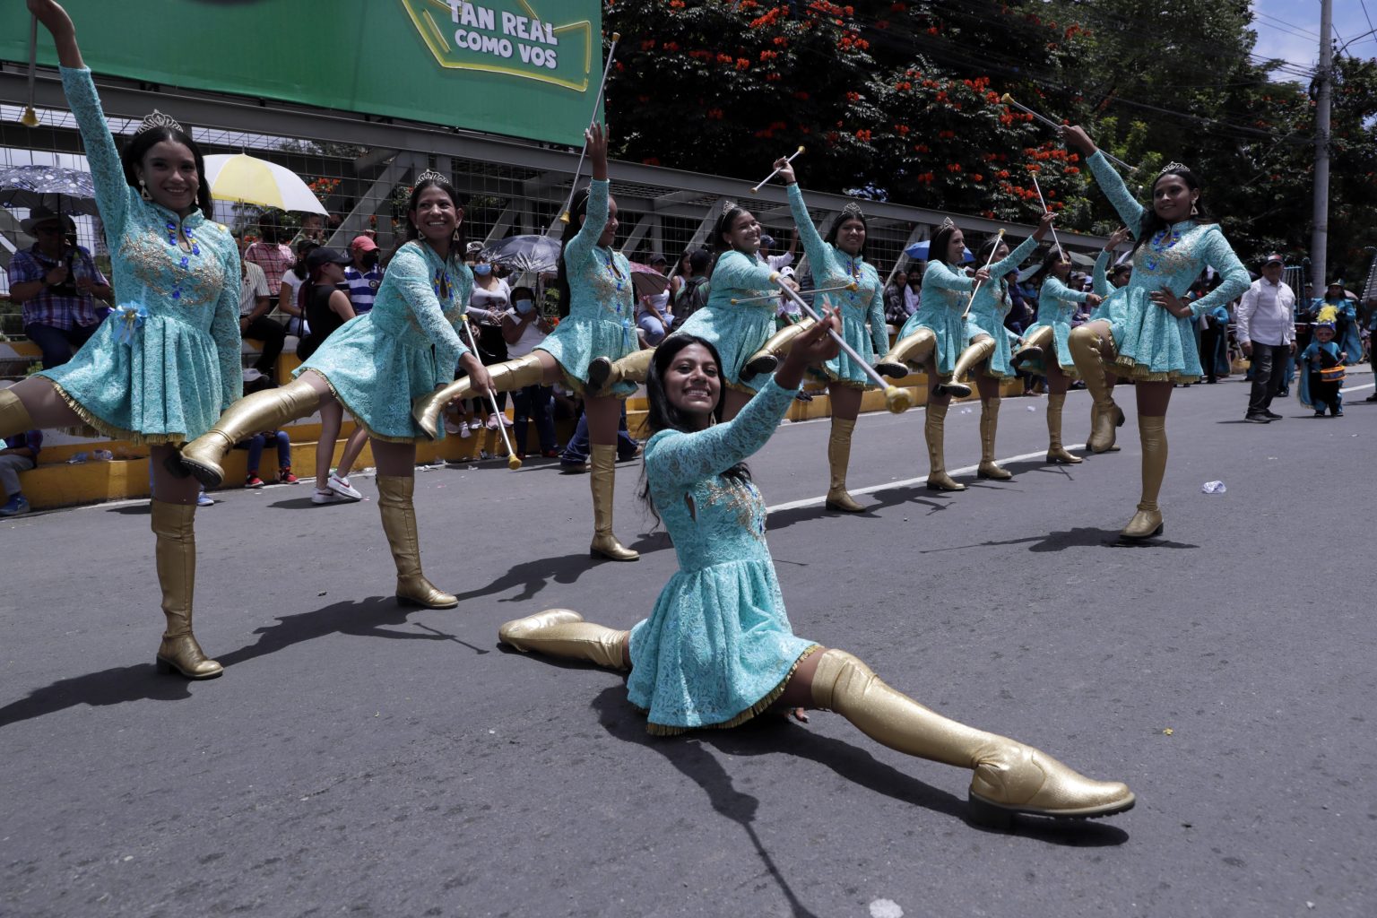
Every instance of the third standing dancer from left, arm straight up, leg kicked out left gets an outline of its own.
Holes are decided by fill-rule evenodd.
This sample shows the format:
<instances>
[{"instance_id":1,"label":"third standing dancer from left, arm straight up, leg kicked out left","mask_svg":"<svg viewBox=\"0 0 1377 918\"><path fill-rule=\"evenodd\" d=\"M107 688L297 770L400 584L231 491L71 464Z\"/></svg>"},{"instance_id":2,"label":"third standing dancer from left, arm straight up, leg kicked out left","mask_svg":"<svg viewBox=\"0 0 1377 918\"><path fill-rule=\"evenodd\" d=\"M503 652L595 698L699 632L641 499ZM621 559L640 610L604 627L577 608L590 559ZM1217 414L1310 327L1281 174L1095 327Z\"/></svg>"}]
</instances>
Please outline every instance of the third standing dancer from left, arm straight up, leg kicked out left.
<instances>
[{"instance_id":1,"label":"third standing dancer from left, arm straight up, leg kicked out left","mask_svg":"<svg viewBox=\"0 0 1377 918\"><path fill-rule=\"evenodd\" d=\"M607 370L627 355L638 355L633 363L644 367L650 351L638 351L631 263L613 249L618 224L617 202L607 183L607 135L600 124L593 124L584 139L593 180L587 193L574 198L559 244L559 301L569 304L569 315L530 354L489 369L497 391L512 392L563 380L570 389L584 395L593 498L593 538L588 552L614 562L633 562L640 555L617 541L613 533L613 493L617 425L622 402L636 391L636 384L609 380ZM602 367L600 376L595 365ZM445 405L483 394L476 380L456 380L417 399L416 423L434 435Z\"/></svg>"}]
</instances>

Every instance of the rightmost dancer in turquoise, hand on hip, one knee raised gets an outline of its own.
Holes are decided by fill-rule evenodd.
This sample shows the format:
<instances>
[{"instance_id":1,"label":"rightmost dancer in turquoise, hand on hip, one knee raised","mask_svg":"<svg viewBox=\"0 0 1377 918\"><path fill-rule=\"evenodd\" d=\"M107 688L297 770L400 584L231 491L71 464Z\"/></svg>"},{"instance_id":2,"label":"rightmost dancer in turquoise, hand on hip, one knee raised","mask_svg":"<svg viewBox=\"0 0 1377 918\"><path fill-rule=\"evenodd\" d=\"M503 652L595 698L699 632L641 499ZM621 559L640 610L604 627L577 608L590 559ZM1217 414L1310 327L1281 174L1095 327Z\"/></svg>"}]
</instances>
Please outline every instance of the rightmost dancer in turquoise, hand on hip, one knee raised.
<instances>
[{"instance_id":1,"label":"rightmost dancer in turquoise, hand on hip, one knee raised","mask_svg":"<svg viewBox=\"0 0 1377 918\"><path fill-rule=\"evenodd\" d=\"M1143 445L1143 493L1133 519L1120 533L1144 540L1162 533L1157 497L1166 473L1166 406L1175 383L1201 377L1191 315L1201 315L1241 296L1249 286L1219 224L1201 215L1201 183L1188 168L1170 162L1153 182L1153 205L1142 206L1114 167L1080 127L1063 127L1066 145L1086 157L1095 180L1124 223L1133 230L1133 277L1128 282L1120 321L1099 319L1074 329L1070 351L1085 388L1095 396L1095 429L1086 446L1103 453L1114 445L1124 412L1104 383L1106 361L1120 376L1136 381L1137 429ZM1206 267L1221 282L1191 304L1181 295Z\"/></svg>"}]
</instances>

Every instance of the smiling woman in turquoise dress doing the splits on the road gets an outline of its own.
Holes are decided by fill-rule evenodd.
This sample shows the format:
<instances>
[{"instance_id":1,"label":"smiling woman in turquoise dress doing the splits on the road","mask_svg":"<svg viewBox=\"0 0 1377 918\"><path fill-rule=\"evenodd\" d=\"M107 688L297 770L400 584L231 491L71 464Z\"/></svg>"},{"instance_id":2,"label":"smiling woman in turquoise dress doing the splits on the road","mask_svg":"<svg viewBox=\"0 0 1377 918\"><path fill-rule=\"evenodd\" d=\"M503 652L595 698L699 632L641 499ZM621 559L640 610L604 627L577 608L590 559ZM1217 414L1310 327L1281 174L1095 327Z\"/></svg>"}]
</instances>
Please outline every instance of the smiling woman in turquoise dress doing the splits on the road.
<instances>
[{"instance_id":1,"label":"smiling woman in turquoise dress doing the splits on the road","mask_svg":"<svg viewBox=\"0 0 1377 918\"><path fill-rule=\"evenodd\" d=\"M519 651L631 669L628 699L647 729L675 735L726 728L767 712L832 710L872 739L974 772L972 816L1108 816L1135 804L1118 782L1092 780L1041 750L947 720L895 691L859 659L799 637L789 625L770 549L766 505L745 460L768 442L804 370L837 354L828 330L801 332L778 373L730 421L709 341L672 334L646 380L650 428L643 500L669 531L679 570L650 618L629 632L552 608L503 625Z\"/></svg>"}]
</instances>

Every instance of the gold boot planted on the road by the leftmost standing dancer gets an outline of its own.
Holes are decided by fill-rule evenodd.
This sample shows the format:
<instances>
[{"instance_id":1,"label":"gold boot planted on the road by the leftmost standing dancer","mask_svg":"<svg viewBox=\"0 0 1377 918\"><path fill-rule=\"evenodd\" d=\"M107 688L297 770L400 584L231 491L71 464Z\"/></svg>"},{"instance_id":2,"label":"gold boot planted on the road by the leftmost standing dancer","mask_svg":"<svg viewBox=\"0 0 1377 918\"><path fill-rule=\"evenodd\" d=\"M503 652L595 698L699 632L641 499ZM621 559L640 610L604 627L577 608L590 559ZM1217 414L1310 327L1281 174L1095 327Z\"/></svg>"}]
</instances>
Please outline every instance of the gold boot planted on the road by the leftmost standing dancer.
<instances>
[{"instance_id":1,"label":"gold boot planted on the road by the leftmost standing dancer","mask_svg":"<svg viewBox=\"0 0 1377 918\"><path fill-rule=\"evenodd\" d=\"M187 679L215 679L223 668L207 659L191 633L191 601L196 595L196 504L149 502L157 545L162 615L168 619L154 663L160 673L176 670Z\"/></svg>"}]
</instances>

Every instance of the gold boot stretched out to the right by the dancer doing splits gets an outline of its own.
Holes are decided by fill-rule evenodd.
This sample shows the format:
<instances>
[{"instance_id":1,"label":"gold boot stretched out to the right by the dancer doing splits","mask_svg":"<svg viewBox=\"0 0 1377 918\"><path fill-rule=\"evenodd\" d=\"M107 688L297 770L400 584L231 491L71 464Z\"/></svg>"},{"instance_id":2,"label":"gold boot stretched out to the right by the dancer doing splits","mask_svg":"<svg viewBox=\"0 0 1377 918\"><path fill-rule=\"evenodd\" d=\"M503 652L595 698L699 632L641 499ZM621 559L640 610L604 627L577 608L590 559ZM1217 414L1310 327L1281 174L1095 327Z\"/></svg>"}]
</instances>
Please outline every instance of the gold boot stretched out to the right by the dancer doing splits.
<instances>
[{"instance_id":1,"label":"gold boot stretched out to the right by the dancer doing splits","mask_svg":"<svg viewBox=\"0 0 1377 918\"><path fill-rule=\"evenodd\" d=\"M1033 746L924 707L845 651L822 652L812 674L812 701L890 749L972 769L971 815L982 822L1007 823L1013 813L1108 816L1135 802L1121 782L1093 780Z\"/></svg>"}]
</instances>

